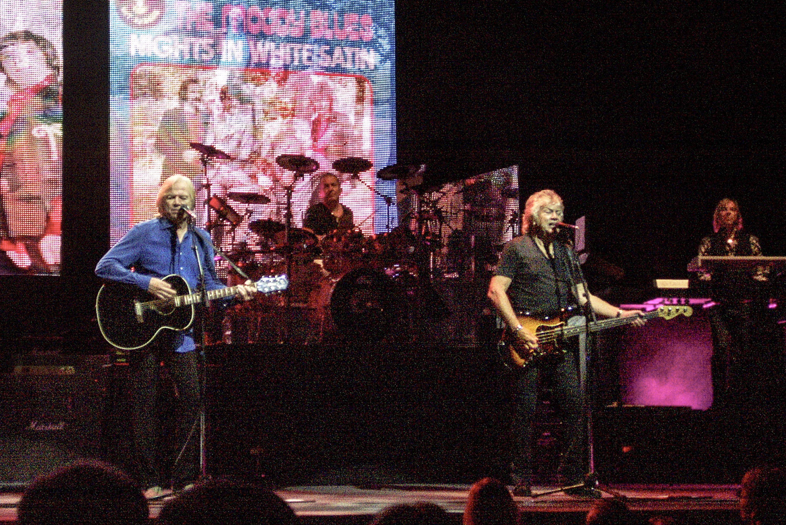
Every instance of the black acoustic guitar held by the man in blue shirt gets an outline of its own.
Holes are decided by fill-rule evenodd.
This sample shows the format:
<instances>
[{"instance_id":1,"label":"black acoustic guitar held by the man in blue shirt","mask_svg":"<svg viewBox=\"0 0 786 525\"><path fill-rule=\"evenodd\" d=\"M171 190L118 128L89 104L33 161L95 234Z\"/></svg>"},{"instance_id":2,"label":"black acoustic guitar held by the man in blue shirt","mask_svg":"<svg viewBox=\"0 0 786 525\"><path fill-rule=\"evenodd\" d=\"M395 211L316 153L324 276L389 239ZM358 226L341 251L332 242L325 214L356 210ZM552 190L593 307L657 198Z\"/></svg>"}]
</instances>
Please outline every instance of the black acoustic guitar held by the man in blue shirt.
<instances>
[{"instance_id":1,"label":"black acoustic guitar held by the man in blue shirt","mask_svg":"<svg viewBox=\"0 0 786 525\"><path fill-rule=\"evenodd\" d=\"M192 293L179 275L163 277L177 296L158 299L138 286L109 282L96 297L98 328L107 343L121 350L144 348L165 329L185 330L194 321L194 305L202 302L201 293ZM257 292L272 293L287 289L285 275L262 277L253 286ZM207 292L208 300L223 299L237 293L238 286Z\"/></svg>"}]
</instances>

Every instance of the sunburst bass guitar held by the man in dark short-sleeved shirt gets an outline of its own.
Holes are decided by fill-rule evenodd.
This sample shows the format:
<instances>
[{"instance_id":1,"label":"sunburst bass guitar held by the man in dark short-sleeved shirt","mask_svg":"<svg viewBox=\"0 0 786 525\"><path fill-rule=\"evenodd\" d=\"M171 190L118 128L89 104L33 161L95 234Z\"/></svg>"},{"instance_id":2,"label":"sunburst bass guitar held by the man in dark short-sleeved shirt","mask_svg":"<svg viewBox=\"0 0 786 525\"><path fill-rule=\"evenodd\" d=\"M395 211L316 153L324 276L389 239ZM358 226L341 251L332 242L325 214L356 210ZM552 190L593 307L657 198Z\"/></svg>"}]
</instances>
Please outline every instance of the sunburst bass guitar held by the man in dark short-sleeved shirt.
<instances>
[{"instance_id":1,"label":"sunburst bass guitar held by the man in dark short-sleeved shirt","mask_svg":"<svg viewBox=\"0 0 786 525\"><path fill-rule=\"evenodd\" d=\"M565 324L564 316L554 318L534 318L527 315L521 316L520 324L527 332L538 336L538 348L531 350L513 335L509 329L502 333L502 358L506 365L517 368L524 368L540 359L550 356L560 356L566 351L564 348L565 340L568 337L578 336L589 332L600 332L601 330L615 328L616 326L628 325L637 319L664 318L671 319L678 315L690 317L693 314L691 307L682 305L669 305L659 307L657 310L649 311L642 316L630 316L627 318L610 318L602 321L589 323L589 327L584 325L568 326Z\"/></svg>"}]
</instances>

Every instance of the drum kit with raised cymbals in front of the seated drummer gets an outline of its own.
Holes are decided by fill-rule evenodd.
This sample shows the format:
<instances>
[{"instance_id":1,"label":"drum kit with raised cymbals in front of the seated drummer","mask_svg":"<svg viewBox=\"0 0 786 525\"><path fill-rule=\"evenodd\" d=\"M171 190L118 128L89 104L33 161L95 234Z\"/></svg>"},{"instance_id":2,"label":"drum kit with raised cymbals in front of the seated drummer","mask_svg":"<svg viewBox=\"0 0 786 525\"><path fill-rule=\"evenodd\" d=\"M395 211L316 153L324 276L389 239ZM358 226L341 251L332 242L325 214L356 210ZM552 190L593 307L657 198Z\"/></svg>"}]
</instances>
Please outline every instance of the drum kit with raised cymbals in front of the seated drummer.
<instances>
[{"instance_id":1,"label":"drum kit with raised cymbals in front of the seated drummer","mask_svg":"<svg viewBox=\"0 0 786 525\"><path fill-rule=\"evenodd\" d=\"M207 181L208 160L231 160L226 153L210 145L192 143L200 152ZM336 160L332 168L359 181L369 191L381 196L387 204L387 226L384 233L364 237L359 229L335 232L318 239L308 229L292 226L292 191L295 182L318 171L319 163L303 155L280 155L276 163L292 171L292 185L285 186L285 221L263 218L248 222L248 231L258 237L258 246L248 241L237 242L232 236L230 259L245 273L258 279L264 275L286 273L289 288L283 296L259 296L255 301L237 305L224 320L226 343L303 342L347 338L378 339L387 336L393 325L412 323L418 318L445 314L444 304L434 292L434 251L441 240L431 233L428 222L440 220L439 208L429 205L426 193L435 191L422 183L424 166L394 164L376 176L384 181L403 182L406 190L417 193L415 214L417 231L402 225L391 229L390 196L379 193L360 178L372 167L369 160L347 157ZM420 183L418 183L418 181ZM206 204L206 228L226 222L229 233L251 215L238 213L226 200L210 194ZM240 204L269 204L270 197L252 189L233 189L227 200ZM421 209L421 203L424 207ZM213 218L215 214L215 219ZM440 228L441 231L441 228ZM243 278L229 270L227 284L235 285ZM433 304L436 302L436 304ZM298 311L300 314L298 314ZM293 320L305 330L299 335ZM337 330L334 330L333 327ZM412 330L397 330L399 337L409 337Z\"/></svg>"}]
</instances>

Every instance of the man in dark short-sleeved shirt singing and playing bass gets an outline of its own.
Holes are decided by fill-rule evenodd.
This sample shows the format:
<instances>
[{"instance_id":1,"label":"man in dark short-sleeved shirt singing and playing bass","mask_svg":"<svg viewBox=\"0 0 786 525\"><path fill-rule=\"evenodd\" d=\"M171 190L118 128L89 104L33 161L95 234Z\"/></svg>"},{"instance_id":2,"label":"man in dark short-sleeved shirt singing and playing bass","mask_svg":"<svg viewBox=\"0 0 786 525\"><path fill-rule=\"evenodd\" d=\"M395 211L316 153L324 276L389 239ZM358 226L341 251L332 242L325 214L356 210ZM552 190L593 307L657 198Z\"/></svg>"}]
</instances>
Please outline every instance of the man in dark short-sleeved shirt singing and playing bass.
<instances>
[{"instance_id":1,"label":"man in dark short-sleeved shirt singing and playing bass","mask_svg":"<svg viewBox=\"0 0 786 525\"><path fill-rule=\"evenodd\" d=\"M577 485L583 483L583 475L587 473L577 340L556 340L556 337L547 338L545 333L538 336L534 333L537 324L525 323L525 326L520 319L524 314L531 318L548 319L551 316L559 320L561 312L587 301L578 276L578 257L570 246L556 238L563 211L562 199L551 189L534 193L527 199L522 215L523 235L505 244L488 289L489 299L508 327L509 346L515 350L512 354L516 354L513 361L522 367L516 380L518 457L512 475L516 495L531 494L532 423L541 374L551 376L553 397L564 420L560 475L565 483ZM606 318L632 318L643 314L641 310L619 310L592 294L589 294L589 303L596 314ZM630 321L634 325L645 323L641 317ZM562 351L549 351L557 346ZM538 354L546 355L538 357Z\"/></svg>"}]
</instances>

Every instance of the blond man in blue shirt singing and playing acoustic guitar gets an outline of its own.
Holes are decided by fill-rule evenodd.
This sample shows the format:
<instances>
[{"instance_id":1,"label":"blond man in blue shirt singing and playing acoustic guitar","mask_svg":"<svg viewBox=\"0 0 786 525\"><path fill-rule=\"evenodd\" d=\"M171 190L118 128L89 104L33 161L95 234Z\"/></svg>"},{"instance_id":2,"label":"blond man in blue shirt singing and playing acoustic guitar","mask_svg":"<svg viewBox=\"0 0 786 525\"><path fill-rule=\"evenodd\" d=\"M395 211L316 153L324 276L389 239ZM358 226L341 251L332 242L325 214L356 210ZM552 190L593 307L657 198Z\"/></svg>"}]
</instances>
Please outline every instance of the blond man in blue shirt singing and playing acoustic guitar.
<instances>
[{"instance_id":1,"label":"blond man in blue shirt singing and playing acoustic guitar","mask_svg":"<svg viewBox=\"0 0 786 525\"><path fill-rule=\"evenodd\" d=\"M193 210L194 200L194 187L189 178L182 175L167 178L156 198L158 217L132 227L98 262L96 275L109 281L135 285L158 299L174 299L178 292L169 279L163 277L182 277L193 290L200 282L201 266L208 291L225 288L215 274L214 251L208 233L189 224L189 211ZM251 299L256 292L249 283L235 287L241 299ZM130 322L133 323L133 315L131 317ZM193 432L189 439L189 431L194 428L199 413L200 389L196 345L190 324L189 321L187 327L156 332L155 340L147 344L144 351L135 350L130 354L129 376L133 389L131 424L134 457L138 463L136 474L146 489L147 497L162 495L159 439L174 443L176 453L188 443L172 468L174 488L192 484L196 479L198 435ZM161 435L162 425L156 406L161 384L160 362L167 365L167 373L177 393L177 434L168 439Z\"/></svg>"}]
</instances>

